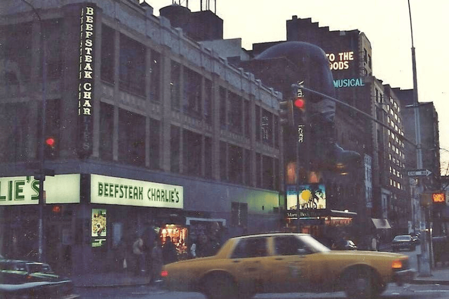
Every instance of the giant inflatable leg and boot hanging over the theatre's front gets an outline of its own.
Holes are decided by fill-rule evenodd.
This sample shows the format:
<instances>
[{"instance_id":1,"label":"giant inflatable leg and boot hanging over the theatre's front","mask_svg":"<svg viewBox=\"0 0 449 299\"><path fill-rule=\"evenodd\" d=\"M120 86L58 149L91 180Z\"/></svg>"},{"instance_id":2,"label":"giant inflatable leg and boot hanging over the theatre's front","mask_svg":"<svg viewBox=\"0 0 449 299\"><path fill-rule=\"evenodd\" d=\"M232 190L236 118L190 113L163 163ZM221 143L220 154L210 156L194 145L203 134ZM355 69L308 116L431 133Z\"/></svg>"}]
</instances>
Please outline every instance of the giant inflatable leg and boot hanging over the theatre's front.
<instances>
[{"instance_id":1,"label":"giant inflatable leg and boot hanging over the theatre's front","mask_svg":"<svg viewBox=\"0 0 449 299\"><path fill-rule=\"evenodd\" d=\"M287 41L271 46L258 56L256 60L285 58L286 67L295 77L283 80L284 97L293 97L291 84L303 82L308 89L335 97L332 72L326 53L318 46L306 42ZM285 63L285 62L284 62ZM292 65L288 65L292 64ZM344 150L336 143L335 102L316 93L302 91L306 101L306 130L311 132L309 159L312 167L324 167L341 172L346 171L360 161L360 154ZM295 114L293 114L295 115ZM294 120L297 125L298 120ZM307 133L307 131L306 131ZM288 158L288 157L287 157Z\"/></svg>"}]
</instances>

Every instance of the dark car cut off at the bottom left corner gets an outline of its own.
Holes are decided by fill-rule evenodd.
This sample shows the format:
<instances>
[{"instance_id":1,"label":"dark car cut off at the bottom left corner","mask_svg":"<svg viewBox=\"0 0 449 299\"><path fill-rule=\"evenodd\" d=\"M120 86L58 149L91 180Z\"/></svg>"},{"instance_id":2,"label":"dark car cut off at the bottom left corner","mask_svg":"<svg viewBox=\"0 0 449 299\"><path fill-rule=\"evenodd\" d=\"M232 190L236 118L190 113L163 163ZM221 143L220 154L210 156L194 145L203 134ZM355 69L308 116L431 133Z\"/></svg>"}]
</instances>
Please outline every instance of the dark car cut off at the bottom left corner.
<instances>
[{"instance_id":1,"label":"dark car cut off at the bottom left corner","mask_svg":"<svg viewBox=\"0 0 449 299\"><path fill-rule=\"evenodd\" d=\"M0 259L0 298L74 299L73 283L46 263Z\"/></svg>"}]
</instances>

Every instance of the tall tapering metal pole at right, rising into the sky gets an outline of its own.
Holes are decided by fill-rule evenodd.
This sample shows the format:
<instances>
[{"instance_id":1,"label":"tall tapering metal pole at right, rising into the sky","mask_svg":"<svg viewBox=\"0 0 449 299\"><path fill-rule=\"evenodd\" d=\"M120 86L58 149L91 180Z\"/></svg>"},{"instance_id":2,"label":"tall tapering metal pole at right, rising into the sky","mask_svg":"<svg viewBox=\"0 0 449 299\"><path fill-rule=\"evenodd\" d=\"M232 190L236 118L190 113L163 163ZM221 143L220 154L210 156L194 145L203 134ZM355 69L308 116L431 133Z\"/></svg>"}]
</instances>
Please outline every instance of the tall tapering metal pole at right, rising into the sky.
<instances>
[{"instance_id":1,"label":"tall tapering metal pole at right, rising into the sky","mask_svg":"<svg viewBox=\"0 0 449 299\"><path fill-rule=\"evenodd\" d=\"M420 109L418 102L418 79L416 72L416 55L415 55L415 46L413 43L413 26L412 26L412 10L410 8L410 0L409 3L409 16L410 16L410 33L412 36L412 68L413 68L413 104L415 106L415 137L416 137L416 166L417 169L423 168L423 155L422 155L422 145L421 145L421 124L420 124ZM421 180L418 182L418 192L423 196L423 185ZM421 221L427 223L427 215L426 215L426 207L421 207ZM420 225L421 227L421 225ZM427 225L424 227L424 232L421 234L422 242L421 242L421 258L419 259L420 263L420 276L431 276L431 261L428 250L428 238L427 238ZM432 241L432 240L429 240Z\"/></svg>"}]
</instances>

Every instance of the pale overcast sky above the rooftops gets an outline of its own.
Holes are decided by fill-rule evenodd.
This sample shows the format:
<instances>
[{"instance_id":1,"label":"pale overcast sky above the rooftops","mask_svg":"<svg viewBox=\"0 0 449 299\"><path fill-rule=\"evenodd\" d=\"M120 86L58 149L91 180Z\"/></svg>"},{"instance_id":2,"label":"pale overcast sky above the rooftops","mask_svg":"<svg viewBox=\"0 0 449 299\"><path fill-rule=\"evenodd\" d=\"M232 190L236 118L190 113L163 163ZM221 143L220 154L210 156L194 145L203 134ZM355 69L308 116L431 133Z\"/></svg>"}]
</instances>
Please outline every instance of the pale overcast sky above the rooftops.
<instances>
[{"instance_id":1,"label":"pale overcast sky above the rooftops","mask_svg":"<svg viewBox=\"0 0 449 299\"><path fill-rule=\"evenodd\" d=\"M172 0L146 0L159 9ZM206 3L208 0L203 0ZM215 1L210 1L211 10ZM179 0L176 0L179 3ZM200 10L200 0L189 0L192 11ZM186 6L186 0L181 0ZM330 30L358 29L366 34L373 51L373 75L384 84L413 88L412 38L408 0L217 0L217 15L224 20L224 38L241 38L242 47L256 42L286 40L286 20L292 15L312 18ZM449 161L448 82L448 0L410 0L413 39L416 48L418 98L434 102L440 121L443 174Z\"/></svg>"}]
</instances>

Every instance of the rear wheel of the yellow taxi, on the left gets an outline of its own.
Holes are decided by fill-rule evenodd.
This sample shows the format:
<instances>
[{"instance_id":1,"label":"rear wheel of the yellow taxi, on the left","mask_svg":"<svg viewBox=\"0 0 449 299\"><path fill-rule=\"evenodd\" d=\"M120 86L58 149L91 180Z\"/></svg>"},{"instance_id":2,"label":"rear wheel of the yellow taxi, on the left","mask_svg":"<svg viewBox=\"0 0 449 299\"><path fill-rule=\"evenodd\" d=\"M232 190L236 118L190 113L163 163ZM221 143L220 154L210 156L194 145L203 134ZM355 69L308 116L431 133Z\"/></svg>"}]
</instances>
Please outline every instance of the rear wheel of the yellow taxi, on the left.
<instances>
[{"instance_id":1,"label":"rear wheel of the yellow taxi, on the left","mask_svg":"<svg viewBox=\"0 0 449 299\"><path fill-rule=\"evenodd\" d=\"M204 281L204 292L208 299L237 298L237 285L225 274L216 274Z\"/></svg>"}]
</instances>

